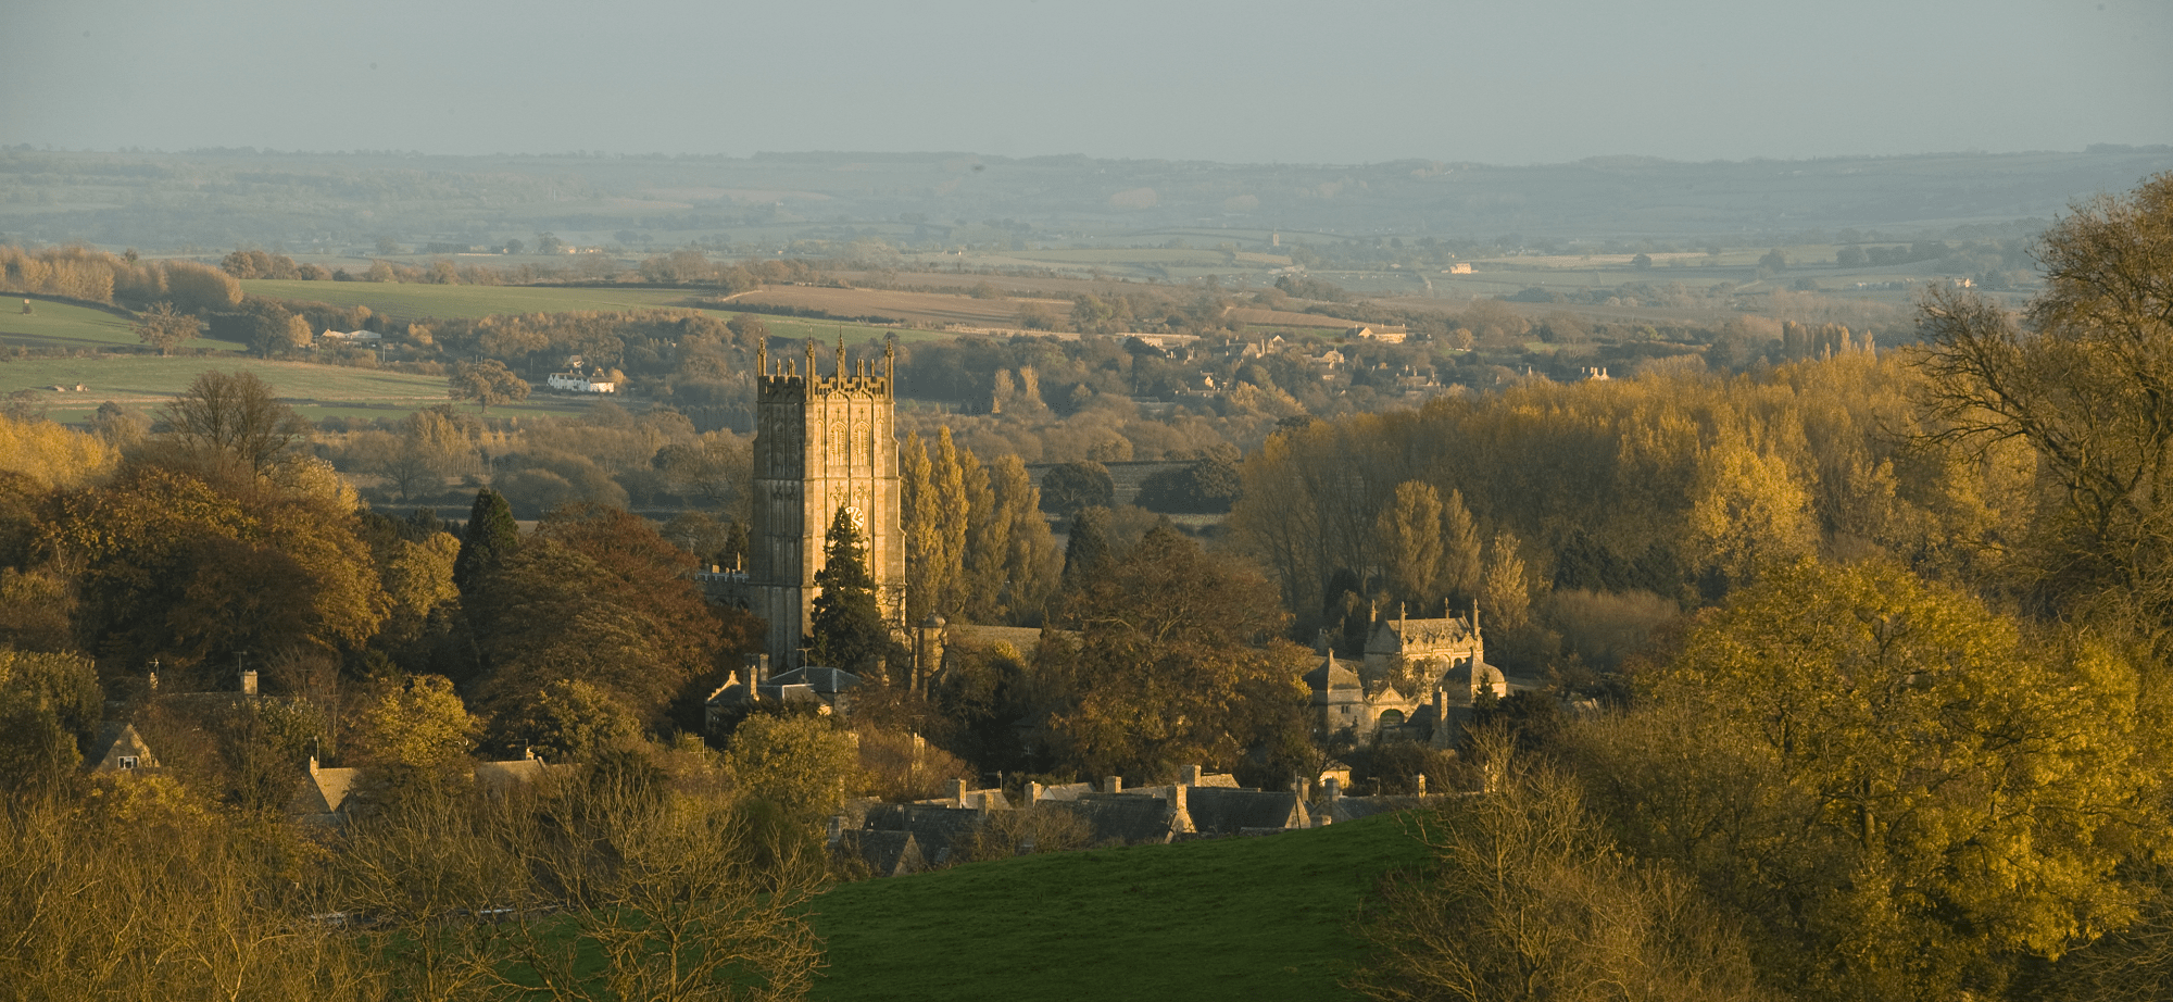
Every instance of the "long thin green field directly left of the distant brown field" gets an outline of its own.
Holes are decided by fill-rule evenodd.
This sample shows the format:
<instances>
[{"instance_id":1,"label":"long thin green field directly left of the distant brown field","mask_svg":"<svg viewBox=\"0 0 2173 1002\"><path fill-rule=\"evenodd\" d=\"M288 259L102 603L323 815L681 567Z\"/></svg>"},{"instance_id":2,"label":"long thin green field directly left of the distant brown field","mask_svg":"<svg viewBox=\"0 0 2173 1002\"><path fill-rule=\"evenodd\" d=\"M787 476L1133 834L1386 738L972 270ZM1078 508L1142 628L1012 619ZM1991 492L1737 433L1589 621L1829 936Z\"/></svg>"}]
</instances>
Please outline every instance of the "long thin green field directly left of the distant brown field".
<instances>
[{"instance_id":1,"label":"long thin green field directly left of the distant brown field","mask_svg":"<svg viewBox=\"0 0 2173 1002\"><path fill-rule=\"evenodd\" d=\"M372 313L411 322L424 317L476 320L493 313L624 313L682 306L691 289L571 289L556 285L422 285L422 283L300 283L250 278L241 291L291 302L369 306Z\"/></svg>"}]
</instances>

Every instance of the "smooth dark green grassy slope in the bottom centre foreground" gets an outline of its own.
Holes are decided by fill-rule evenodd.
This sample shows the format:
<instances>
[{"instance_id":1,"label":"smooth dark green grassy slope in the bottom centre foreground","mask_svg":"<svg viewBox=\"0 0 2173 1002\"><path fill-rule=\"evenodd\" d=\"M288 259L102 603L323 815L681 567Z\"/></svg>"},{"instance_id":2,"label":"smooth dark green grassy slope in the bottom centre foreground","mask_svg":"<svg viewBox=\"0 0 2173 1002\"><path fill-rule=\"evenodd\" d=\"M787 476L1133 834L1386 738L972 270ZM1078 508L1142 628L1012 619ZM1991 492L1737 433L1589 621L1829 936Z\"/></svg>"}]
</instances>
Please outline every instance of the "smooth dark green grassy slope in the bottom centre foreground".
<instances>
[{"instance_id":1,"label":"smooth dark green grassy slope in the bottom centre foreground","mask_svg":"<svg viewBox=\"0 0 2173 1002\"><path fill-rule=\"evenodd\" d=\"M1358 906L1421 859L1389 815L847 885L817 900L830 967L813 998L1356 998Z\"/></svg>"}]
</instances>

